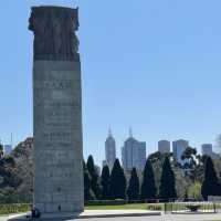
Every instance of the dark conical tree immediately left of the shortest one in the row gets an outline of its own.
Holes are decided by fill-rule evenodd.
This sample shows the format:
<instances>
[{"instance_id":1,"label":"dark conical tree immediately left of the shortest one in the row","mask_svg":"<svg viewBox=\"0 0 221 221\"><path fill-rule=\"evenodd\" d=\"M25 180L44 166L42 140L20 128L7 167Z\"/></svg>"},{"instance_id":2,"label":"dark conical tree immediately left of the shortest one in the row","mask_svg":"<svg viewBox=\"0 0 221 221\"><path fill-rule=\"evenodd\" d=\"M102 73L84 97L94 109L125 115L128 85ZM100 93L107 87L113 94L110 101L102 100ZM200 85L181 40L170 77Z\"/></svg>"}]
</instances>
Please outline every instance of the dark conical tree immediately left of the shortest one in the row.
<instances>
[{"instance_id":1,"label":"dark conical tree immediately left of the shortest one in the row","mask_svg":"<svg viewBox=\"0 0 221 221\"><path fill-rule=\"evenodd\" d=\"M127 181L119 160L116 159L110 173L109 193L112 199L126 199Z\"/></svg>"}]
</instances>

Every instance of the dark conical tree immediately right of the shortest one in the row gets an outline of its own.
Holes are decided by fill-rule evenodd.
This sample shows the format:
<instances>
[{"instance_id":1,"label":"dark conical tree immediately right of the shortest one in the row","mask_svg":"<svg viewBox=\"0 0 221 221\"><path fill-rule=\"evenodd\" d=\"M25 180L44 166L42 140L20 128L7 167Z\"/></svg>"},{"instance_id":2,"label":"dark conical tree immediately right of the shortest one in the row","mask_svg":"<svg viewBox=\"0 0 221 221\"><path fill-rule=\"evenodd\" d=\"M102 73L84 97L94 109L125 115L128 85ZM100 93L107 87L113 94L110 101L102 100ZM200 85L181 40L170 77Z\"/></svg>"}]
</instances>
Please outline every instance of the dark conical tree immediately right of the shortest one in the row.
<instances>
[{"instance_id":1,"label":"dark conical tree immediately right of the shortest one in the row","mask_svg":"<svg viewBox=\"0 0 221 221\"><path fill-rule=\"evenodd\" d=\"M155 182L155 175L151 161L147 159L144 175L143 175L143 185L141 185L141 194L140 199L155 199L157 193L156 182Z\"/></svg>"}]
</instances>

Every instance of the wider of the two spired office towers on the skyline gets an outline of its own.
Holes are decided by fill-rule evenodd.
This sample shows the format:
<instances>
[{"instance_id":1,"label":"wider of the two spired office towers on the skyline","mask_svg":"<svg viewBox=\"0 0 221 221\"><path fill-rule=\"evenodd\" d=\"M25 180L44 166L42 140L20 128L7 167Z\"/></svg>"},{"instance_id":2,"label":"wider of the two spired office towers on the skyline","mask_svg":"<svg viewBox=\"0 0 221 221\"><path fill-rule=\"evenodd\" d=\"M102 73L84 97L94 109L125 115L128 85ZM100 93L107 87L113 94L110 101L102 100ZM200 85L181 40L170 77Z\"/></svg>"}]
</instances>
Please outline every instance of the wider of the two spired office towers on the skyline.
<instances>
[{"instance_id":1,"label":"wider of the two spired office towers on the skyline","mask_svg":"<svg viewBox=\"0 0 221 221\"><path fill-rule=\"evenodd\" d=\"M131 170L133 167L143 170L146 164L146 143L136 140L131 131L122 147L122 162L126 170Z\"/></svg>"}]
</instances>

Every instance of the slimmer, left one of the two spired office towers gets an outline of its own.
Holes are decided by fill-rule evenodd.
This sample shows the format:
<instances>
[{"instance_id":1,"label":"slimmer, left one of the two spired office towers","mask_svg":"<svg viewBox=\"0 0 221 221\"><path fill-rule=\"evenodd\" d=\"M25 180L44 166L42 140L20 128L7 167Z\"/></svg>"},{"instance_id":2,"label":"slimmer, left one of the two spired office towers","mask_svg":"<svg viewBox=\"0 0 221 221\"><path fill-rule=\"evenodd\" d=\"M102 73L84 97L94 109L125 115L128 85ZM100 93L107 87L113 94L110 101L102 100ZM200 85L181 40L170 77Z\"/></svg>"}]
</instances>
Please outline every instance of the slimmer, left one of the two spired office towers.
<instances>
[{"instance_id":1,"label":"slimmer, left one of the two spired office towers","mask_svg":"<svg viewBox=\"0 0 221 221\"><path fill-rule=\"evenodd\" d=\"M116 160L116 141L112 135L112 130L108 131L108 137L105 141L105 156L106 165L112 168Z\"/></svg>"}]
</instances>

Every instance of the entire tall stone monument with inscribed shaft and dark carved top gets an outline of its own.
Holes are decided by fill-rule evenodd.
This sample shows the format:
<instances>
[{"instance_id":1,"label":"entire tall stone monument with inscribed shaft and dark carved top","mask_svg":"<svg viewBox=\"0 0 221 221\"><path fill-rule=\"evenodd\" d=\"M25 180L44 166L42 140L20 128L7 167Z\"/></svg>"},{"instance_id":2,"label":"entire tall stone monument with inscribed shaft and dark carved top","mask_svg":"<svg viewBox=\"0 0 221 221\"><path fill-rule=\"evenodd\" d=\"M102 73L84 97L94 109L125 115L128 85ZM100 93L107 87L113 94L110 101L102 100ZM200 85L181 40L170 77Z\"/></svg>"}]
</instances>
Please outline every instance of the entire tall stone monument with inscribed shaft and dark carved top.
<instances>
[{"instance_id":1,"label":"entire tall stone monument with inscribed shaft and dark carved top","mask_svg":"<svg viewBox=\"0 0 221 221\"><path fill-rule=\"evenodd\" d=\"M84 210L78 9L33 7L34 207Z\"/></svg>"}]
</instances>

